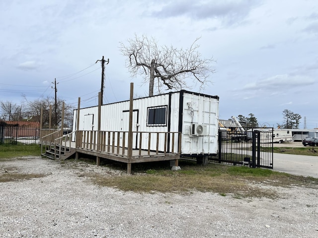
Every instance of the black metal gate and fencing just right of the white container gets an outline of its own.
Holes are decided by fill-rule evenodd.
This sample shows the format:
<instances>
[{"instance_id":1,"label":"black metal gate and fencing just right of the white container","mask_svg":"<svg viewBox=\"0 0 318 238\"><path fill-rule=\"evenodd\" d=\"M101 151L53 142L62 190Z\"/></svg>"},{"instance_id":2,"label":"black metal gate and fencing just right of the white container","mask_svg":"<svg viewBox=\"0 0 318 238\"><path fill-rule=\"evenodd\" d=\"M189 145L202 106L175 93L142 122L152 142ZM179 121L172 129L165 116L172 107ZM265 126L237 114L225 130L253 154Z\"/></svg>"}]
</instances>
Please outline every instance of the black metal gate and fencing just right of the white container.
<instances>
[{"instance_id":1,"label":"black metal gate and fencing just right of the white container","mask_svg":"<svg viewBox=\"0 0 318 238\"><path fill-rule=\"evenodd\" d=\"M245 132L219 131L219 163L273 169L273 128L252 128Z\"/></svg>"}]
</instances>

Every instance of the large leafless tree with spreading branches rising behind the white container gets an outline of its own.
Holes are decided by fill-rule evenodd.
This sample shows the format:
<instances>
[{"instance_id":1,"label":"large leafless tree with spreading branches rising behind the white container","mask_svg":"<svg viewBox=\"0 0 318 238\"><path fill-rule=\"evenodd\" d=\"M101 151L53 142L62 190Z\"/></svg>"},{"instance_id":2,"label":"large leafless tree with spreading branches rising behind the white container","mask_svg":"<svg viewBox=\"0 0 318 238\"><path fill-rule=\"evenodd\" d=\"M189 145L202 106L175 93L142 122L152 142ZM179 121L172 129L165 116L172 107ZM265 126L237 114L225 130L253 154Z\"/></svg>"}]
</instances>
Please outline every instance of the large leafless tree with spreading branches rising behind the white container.
<instances>
[{"instance_id":1,"label":"large leafless tree with spreading branches rising behind the white container","mask_svg":"<svg viewBox=\"0 0 318 238\"><path fill-rule=\"evenodd\" d=\"M197 38L189 49L176 49L172 46L158 46L155 38L141 38L135 35L134 39L128 39L128 45L120 42L120 51L127 57L126 66L132 76L144 74L144 83L149 82L149 96L154 95L155 79L156 87L165 87L168 90L180 90L191 88L186 81L193 79L194 84L199 83L200 89L211 82L208 80L211 69L210 64L215 60L202 59L198 52Z\"/></svg>"}]
</instances>

